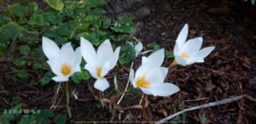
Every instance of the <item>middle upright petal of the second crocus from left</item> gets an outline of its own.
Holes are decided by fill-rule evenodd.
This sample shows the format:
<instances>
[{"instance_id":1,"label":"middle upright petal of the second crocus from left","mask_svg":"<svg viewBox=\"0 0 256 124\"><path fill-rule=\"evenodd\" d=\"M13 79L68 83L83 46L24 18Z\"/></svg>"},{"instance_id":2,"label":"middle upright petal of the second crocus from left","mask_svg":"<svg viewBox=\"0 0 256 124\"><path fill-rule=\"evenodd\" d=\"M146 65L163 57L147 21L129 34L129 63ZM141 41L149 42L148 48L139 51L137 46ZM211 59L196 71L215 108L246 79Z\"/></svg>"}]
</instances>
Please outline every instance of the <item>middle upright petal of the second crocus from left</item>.
<instances>
[{"instance_id":1,"label":"middle upright petal of the second crocus from left","mask_svg":"<svg viewBox=\"0 0 256 124\"><path fill-rule=\"evenodd\" d=\"M97 50L97 63L103 65L113 57L113 48L109 47L108 43L102 43Z\"/></svg>"}]
</instances>

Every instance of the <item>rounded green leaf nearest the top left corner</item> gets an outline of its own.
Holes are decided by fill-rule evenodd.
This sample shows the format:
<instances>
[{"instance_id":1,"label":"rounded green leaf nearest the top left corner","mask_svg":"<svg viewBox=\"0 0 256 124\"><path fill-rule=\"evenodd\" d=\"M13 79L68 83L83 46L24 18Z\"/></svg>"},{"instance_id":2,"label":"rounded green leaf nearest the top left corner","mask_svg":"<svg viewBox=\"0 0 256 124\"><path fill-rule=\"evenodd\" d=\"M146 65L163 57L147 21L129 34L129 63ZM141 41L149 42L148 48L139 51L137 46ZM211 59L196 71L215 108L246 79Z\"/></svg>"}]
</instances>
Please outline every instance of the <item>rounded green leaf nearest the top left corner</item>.
<instances>
[{"instance_id":1,"label":"rounded green leaf nearest the top left corner","mask_svg":"<svg viewBox=\"0 0 256 124\"><path fill-rule=\"evenodd\" d=\"M26 9L26 7L19 5L19 4L13 5L12 12L16 16L19 16L20 18L24 17L24 16L26 16L26 14L28 14L28 10Z\"/></svg>"}]
</instances>

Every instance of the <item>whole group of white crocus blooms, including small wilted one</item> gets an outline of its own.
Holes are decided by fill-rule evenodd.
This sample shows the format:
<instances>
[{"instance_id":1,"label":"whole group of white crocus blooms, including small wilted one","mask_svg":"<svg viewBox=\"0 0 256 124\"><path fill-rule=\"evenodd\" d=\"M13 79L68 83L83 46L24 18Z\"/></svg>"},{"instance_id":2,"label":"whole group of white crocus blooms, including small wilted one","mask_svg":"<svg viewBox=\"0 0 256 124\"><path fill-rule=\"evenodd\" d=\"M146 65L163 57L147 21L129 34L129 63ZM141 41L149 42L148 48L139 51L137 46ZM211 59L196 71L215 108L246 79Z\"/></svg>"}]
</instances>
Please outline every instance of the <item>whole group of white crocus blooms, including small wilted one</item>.
<instances>
[{"instance_id":1,"label":"whole group of white crocus blooms, including small wilted one","mask_svg":"<svg viewBox=\"0 0 256 124\"><path fill-rule=\"evenodd\" d=\"M182 31L178 34L176 45L173 50L175 56L172 65L191 65L204 62L204 58L212 52L215 47L202 48L202 37L190 39L188 37L189 27L184 25ZM138 42L133 45L136 50L136 56L142 54L143 44ZM47 37L43 37L43 50L49 59L47 63L50 69L55 73L52 79L55 82L67 82L69 77L75 72L80 71L82 57L86 65L85 70L96 78L94 87L104 92L109 87L109 82L105 76L114 68L119 59L120 47L113 50L111 42L106 40L95 50L93 45L83 37L80 38L80 47L73 50L71 42L67 42L59 48L55 42ZM130 71L129 81L133 87L139 87L143 93L154 96L169 96L177 93L180 89L170 83L165 82L168 74L168 68L162 67L165 59L165 50L161 48L150 54L148 57L142 57L142 65L135 72Z\"/></svg>"}]
</instances>

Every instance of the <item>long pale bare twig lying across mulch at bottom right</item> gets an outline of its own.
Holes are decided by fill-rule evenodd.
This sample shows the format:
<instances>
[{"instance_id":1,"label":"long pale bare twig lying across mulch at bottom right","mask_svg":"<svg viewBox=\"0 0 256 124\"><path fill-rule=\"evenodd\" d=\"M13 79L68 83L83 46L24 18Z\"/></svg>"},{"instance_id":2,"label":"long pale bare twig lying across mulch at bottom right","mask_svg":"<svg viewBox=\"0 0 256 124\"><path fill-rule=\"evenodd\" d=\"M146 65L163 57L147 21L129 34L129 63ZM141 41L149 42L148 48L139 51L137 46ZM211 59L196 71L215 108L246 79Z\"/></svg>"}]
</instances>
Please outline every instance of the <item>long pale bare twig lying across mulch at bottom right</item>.
<instances>
[{"instance_id":1,"label":"long pale bare twig lying across mulch at bottom right","mask_svg":"<svg viewBox=\"0 0 256 124\"><path fill-rule=\"evenodd\" d=\"M208 107L212 107L212 106L217 106L217 105L220 105L220 104L228 104L228 103L240 100L242 98L246 98L248 100L256 102L256 99L253 99L252 97L249 97L247 95L240 95L240 96L232 97L230 99L218 100L216 102L212 102L212 103L209 103L209 104L202 104L202 105L198 105L198 106L195 106L195 107L191 107L189 109L181 110L181 111L179 111L179 112L177 112L177 113L175 113L175 114L173 114L171 116L167 116L166 118L164 118L164 119L162 119L160 121L156 121L155 124L160 124L160 123L164 123L166 121L169 121L172 118L174 118L175 116L179 116L179 115L183 114L184 112L188 112L188 111L192 111L192 110L204 109L204 108L208 108Z\"/></svg>"}]
</instances>

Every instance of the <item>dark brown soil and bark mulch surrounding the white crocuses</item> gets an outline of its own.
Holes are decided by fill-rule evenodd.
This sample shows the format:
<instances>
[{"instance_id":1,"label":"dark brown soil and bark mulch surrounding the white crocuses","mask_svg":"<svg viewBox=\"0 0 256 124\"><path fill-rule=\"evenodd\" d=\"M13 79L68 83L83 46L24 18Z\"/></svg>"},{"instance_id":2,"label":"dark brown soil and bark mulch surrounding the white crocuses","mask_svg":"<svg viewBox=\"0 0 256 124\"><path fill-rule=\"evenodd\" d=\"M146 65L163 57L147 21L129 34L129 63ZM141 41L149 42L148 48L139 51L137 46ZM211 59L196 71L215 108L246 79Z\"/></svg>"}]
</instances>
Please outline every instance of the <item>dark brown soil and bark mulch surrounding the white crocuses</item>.
<instances>
[{"instance_id":1,"label":"dark brown soil and bark mulch surrounding the white crocuses","mask_svg":"<svg viewBox=\"0 0 256 124\"><path fill-rule=\"evenodd\" d=\"M93 87L94 79L79 85L71 84L69 92L73 118L67 123L75 121L159 121L179 110L241 94L256 98L255 5L251 6L249 3L241 3L240 1L220 0L142 0L137 1L135 8L129 8L123 4L117 4L115 0L108 2L108 15L113 20L117 20L119 16L125 14L134 17L137 24L135 36L143 42L144 46L150 42L157 42L161 48L172 50L177 34L183 25L188 23L189 38L203 37L203 47L216 46L216 48L203 64L185 67L177 65L169 70L166 82L176 84L181 91L166 98L145 97L143 108L137 105L143 94L141 91L127 93L119 105L109 105L108 102L105 102L102 109L101 103L96 100L99 93ZM122 2L125 3L125 1ZM125 9L120 10L117 14L115 10L117 6ZM140 13L138 16L137 9L144 7L146 7L146 14ZM149 13L148 10L150 10ZM140 65L139 58L135 62L135 69ZM165 60L164 66L168 66L173 59L166 58ZM111 71L107 77L108 81L111 82L111 87L114 87L113 76L117 75L119 90L125 89L129 68L129 66L118 65L115 70ZM42 74L38 74L38 76L42 76ZM21 99L23 107L31 109L50 107L50 100L55 93L53 90L56 87L55 82L41 87L26 82L16 82L22 84L17 85L2 81L1 78L0 82L3 83L0 84L0 99L4 98L12 102ZM113 88L108 88L104 93L105 100L111 99L111 96L116 94L111 89ZM74 99L74 90L79 99ZM67 113L63 88L58 95L58 100L61 102L55 108L55 113ZM113 99L111 100L113 101ZM0 100L0 104L0 111L10 107L10 104L4 100ZM241 99L230 104L191 111L169 122L255 123L255 104L247 99ZM109 110L109 106L115 107L115 109ZM201 116L203 115L206 118L202 119Z\"/></svg>"}]
</instances>

